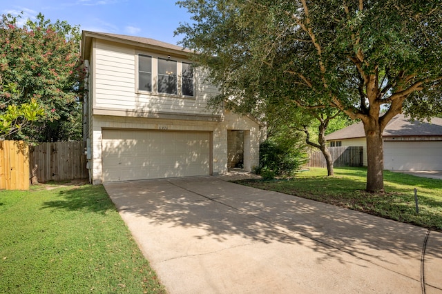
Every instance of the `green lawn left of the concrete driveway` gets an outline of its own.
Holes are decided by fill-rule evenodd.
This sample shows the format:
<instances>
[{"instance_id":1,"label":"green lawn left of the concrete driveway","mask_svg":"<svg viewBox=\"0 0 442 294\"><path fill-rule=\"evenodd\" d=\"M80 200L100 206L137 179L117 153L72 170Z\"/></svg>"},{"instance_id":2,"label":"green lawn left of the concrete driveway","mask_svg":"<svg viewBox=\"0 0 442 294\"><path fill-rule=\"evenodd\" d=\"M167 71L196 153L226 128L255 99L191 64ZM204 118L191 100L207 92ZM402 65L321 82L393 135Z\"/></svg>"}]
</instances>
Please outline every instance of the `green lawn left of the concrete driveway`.
<instances>
[{"instance_id":1,"label":"green lawn left of the concrete driveway","mask_svg":"<svg viewBox=\"0 0 442 294\"><path fill-rule=\"evenodd\" d=\"M165 292L103 186L0 190L0 224L0 293Z\"/></svg>"}]
</instances>

